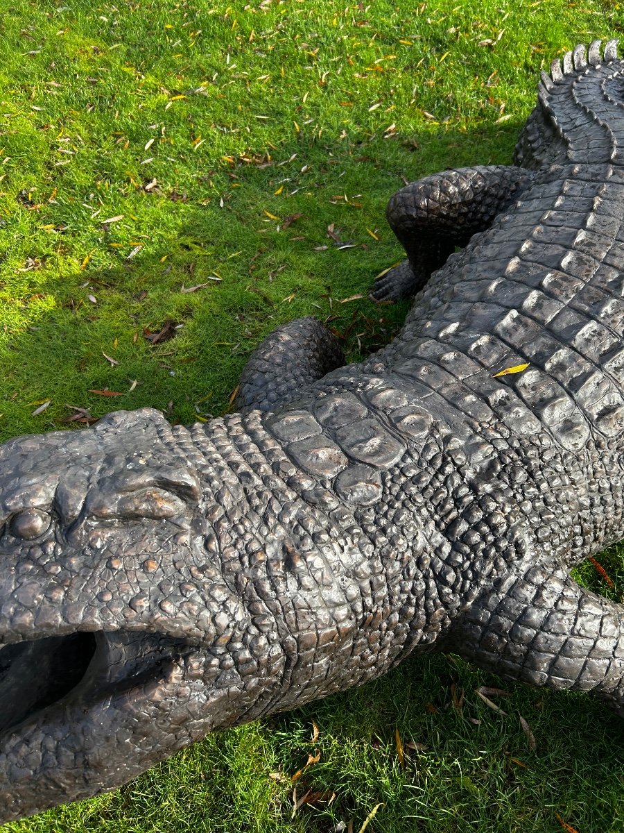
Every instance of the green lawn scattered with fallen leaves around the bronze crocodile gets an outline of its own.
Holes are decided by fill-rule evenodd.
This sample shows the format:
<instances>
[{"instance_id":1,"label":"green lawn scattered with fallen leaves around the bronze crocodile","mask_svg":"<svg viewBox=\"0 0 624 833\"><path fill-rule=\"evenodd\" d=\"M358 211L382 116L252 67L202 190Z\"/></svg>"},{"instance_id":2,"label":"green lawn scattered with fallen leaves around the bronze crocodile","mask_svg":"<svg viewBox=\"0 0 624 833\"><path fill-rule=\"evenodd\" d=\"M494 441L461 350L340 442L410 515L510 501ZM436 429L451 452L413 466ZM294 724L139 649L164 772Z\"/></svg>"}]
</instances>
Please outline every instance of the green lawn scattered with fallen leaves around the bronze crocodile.
<instances>
[{"instance_id":1,"label":"green lawn scattered with fallen leaves around the bronze crocodile","mask_svg":"<svg viewBox=\"0 0 624 833\"><path fill-rule=\"evenodd\" d=\"M350 360L380 347L407 309L365 298L401 257L389 195L509 162L540 67L624 24L597 0L369 2L0 0L2 439L69 427L68 405L218 415L255 344L304 314ZM603 564L619 599L622 557ZM475 694L496 684L454 657L408 661L4 829L357 833L381 804L368 831L622 833L621 721L522 686L503 716ZM319 796L293 815L294 788Z\"/></svg>"}]
</instances>

